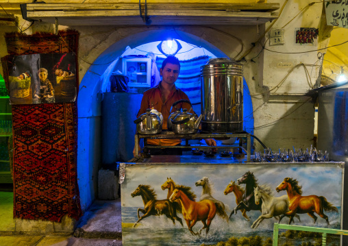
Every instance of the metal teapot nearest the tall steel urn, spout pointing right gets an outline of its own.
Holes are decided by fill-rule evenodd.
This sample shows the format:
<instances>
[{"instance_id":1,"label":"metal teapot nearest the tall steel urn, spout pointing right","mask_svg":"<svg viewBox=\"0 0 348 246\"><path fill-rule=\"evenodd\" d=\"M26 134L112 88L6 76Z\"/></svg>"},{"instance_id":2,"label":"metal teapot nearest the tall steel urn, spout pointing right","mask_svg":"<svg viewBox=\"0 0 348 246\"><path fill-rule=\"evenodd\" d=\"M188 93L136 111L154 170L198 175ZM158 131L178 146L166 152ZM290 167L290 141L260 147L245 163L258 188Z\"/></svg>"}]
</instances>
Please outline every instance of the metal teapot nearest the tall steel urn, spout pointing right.
<instances>
[{"instance_id":1,"label":"metal teapot nearest the tall steel urn, spout pointing right","mask_svg":"<svg viewBox=\"0 0 348 246\"><path fill-rule=\"evenodd\" d=\"M198 118L196 118L196 116L196 114L190 114L187 112L186 108L184 108L182 113L177 114L174 119L171 119L171 123L173 123L173 132L175 134L192 134L197 132L203 114Z\"/></svg>"}]
</instances>

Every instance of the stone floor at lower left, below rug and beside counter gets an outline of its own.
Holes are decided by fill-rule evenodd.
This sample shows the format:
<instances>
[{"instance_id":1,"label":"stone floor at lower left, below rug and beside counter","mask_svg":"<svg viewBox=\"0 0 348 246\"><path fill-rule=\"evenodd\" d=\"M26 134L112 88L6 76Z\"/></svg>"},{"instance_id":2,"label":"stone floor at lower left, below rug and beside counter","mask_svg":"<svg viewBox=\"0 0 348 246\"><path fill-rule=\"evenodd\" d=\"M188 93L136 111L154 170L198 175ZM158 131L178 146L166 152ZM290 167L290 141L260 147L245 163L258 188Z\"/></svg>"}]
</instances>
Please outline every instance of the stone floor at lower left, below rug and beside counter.
<instances>
[{"instance_id":1,"label":"stone floor at lower left, below rug and beside counter","mask_svg":"<svg viewBox=\"0 0 348 246\"><path fill-rule=\"evenodd\" d=\"M0 191L0 245L119 246L122 245L121 200L95 201L84 212L73 235L36 236L14 233L13 193Z\"/></svg>"}]
</instances>

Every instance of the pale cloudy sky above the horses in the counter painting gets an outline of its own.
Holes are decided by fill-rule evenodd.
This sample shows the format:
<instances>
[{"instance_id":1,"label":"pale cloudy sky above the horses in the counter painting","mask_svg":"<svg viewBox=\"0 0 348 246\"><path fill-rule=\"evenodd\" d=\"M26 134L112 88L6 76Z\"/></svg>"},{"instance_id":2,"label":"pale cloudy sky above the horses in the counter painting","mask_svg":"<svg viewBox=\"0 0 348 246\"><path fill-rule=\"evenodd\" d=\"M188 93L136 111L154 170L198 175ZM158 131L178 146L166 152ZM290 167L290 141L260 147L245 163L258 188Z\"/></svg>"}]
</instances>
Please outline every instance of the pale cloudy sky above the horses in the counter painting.
<instances>
[{"instance_id":1,"label":"pale cloudy sky above the horses in the counter painting","mask_svg":"<svg viewBox=\"0 0 348 246\"><path fill-rule=\"evenodd\" d=\"M297 179L302 186L302 195L319 195L326 197L334 206L341 206L342 173L343 169L335 164L173 164L129 166L126 168L125 182L121 184L122 206L143 207L141 197L131 197L131 193L139 184L148 184L154 188L158 199L166 199L168 190L162 190L161 185L166 177L171 177L176 184L190 186L197 195L201 196L202 187L195 182L202 177L209 177L214 184L215 199L223 201L229 208L236 206L234 194L224 195L229 182L236 181L247 171L253 172L258 184L268 184L275 197L286 195L286 191L277 193L278 186L285 177ZM245 187L245 184L241 184Z\"/></svg>"}]
</instances>

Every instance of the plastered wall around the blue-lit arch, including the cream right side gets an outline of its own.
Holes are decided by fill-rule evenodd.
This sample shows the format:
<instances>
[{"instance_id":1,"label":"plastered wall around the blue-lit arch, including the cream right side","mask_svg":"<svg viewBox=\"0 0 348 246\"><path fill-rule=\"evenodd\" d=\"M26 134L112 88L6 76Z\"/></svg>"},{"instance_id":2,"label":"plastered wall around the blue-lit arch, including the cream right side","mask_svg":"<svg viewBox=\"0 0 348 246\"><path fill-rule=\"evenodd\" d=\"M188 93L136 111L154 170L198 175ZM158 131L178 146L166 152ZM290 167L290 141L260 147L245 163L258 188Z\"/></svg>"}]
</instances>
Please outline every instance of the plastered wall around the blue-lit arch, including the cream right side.
<instances>
[{"instance_id":1,"label":"plastered wall around the blue-lit arch, including the cream right side","mask_svg":"<svg viewBox=\"0 0 348 246\"><path fill-rule=\"evenodd\" d=\"M285 1L267 1L269 3ZM282 15L272 28L283 28L288 21L301 11L310 0L289 0ZM281 52L311 51L317 49L318 45L295 44L295 28L297 27L319 27L323 5L316 3L299 14L292 22L284 27L285 44L269 47L269 42L260 40L262 44L266 41L266 49ZM10 7L9 7L10 8ZM19 26L25 29L29 22L21 19L18 14ZM86 209L95 199L97 189L97 174L100 161L100 134L99 117L100 99L98 92L101 88L100 76L107 68L108 62L116 59L123 53L127 45L135 47L142 43L162 40L166 36L172 38L186 38L185 41L194 45L200 45L210 50L216 56L229 56L240 58L241 54L253 47L264 33L266 25L234 26L222 25L214 27L188 27L180 26L166 27L116 27L116 26L71 26L80 32L79 38L79 148L78 148L78 176L80 195L82 197L82 208ZM60 29L68 27L60 26ZM218 29L218 30L216 30ZM36 31L53 32L53 25L35 22L25 33L32 34ZM5 32L16 32L16 27L0 27L0 56L7 54L3 34ZM235 37L243 41L242 45ZM266 38L268 36L266 35ZM181 38L179 38L181 39ZM327 40L320 40L327 42ZM277 150L280 148L310 147L313 143L314 130L314 106L308 97L303 97L314 84L319 74L319 68L308 66L309 76L303 67L295 68L299 63L315 64L318 60L317 52L303 54L282 54L271 51L261 51L261 46L256 47L245 57L243 62L245 79L253 95L253 110L255 117L254 134L266 144L267 147ZM260 54L259 54L260 53ZM251 60L251 58L253 58ZM277 68L279 62L291 63L291 68ZM105 64L105 65L101 65ZM282 79L293 69L293 72L284 80L279 88L275 88ZM2 73L2 68L0 68ZM312 82L310 82L310 79ZM273 90L271 90L273 89ZM271 90L271 92L269 92ZM260 94L262 93L262 94ZM276 93L278 95L271 95ZM260 94L260 95L258 95ZM285 95L286 94L286 95ZM289 95L290 94L290 95ZM83 107L82 107L83 105ZM86 149L84 143L88 144ZM256 143L256 149L262 151L262 147ZM82 173L81 170L88 170Z\"/></svg>"}]
</instances>

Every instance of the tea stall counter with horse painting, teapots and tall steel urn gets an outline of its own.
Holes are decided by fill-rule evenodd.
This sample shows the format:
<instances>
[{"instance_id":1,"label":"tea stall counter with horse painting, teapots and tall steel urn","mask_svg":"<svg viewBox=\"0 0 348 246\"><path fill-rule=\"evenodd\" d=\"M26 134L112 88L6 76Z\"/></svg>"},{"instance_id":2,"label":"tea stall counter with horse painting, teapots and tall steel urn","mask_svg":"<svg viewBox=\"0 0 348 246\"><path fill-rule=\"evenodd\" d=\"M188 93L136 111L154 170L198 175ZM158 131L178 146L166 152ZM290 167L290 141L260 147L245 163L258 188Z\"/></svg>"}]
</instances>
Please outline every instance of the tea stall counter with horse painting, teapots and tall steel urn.
<instances>
[{"instance_id":1,"label":"tea stall counter with horse painting, teapots and tall steel urn","mask_svg":"<svg viewBox=\"0 0 348 246\"><path fill-rule=\"evenodd\" d=\"M243 132L242 85L242 65L211 59L201 66L200 116L177 110L163 131L156 110L134 121L144 149L119 167L123 245L269 245L277 221L342 229L345 163L312 146L251 151L256 136ZM233 137L239 143L222 144ZM153 138L181 138L185 146L157 148L186 152L149 156ZM188 144L204 138L217 146ZM284 232L280 241L301 245L306 237ZM328 245L335 244L340 238Z\"/></svg>"}]
</instances>

